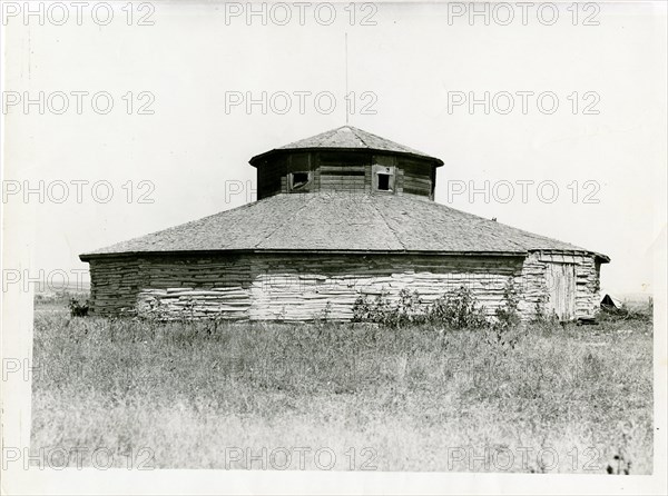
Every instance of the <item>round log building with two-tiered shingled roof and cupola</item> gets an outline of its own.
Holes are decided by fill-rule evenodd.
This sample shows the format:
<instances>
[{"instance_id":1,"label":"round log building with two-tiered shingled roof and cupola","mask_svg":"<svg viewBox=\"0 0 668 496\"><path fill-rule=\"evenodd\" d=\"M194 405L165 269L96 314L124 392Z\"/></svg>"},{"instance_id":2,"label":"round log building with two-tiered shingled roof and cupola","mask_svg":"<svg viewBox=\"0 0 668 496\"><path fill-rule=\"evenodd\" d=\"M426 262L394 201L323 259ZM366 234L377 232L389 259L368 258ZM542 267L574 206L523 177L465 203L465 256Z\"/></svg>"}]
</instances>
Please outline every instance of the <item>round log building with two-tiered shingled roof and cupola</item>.
<instances>
[{"instance_id":1,"label":"round log building with two-tiered shingled roof and cupola","mask_svg":"<svg viewBox=\"0 0 668 496\"><path fill-rule=\"evenodd\" d=\"M350 126L250 159L257 201L80 256L90 308L164 318L353 317L361 295L465 286L489 315L590 319L605 255L434 201L443 162Z\"/></svg>"}]
</instances>

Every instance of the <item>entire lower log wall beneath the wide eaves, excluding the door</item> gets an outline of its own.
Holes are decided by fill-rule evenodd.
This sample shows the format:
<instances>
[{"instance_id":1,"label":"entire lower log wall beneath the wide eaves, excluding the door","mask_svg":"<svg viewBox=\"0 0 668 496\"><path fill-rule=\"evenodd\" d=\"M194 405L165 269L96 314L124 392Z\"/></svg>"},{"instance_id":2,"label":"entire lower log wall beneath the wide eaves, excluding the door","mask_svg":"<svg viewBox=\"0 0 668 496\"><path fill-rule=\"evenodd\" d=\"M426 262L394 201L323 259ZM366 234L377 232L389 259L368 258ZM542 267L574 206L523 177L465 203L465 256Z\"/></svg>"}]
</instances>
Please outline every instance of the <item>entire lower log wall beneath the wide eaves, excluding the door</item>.
<instances>
[{"instance_id":1,"label":"entire lower log wall beneath the wide eaves, excluding the door","mask_svg":"<svg viewBox=\"0 0 668 496\"><path fill-rule=\"evenodd\" d=\"M360 295L395 299L407 288L430 302L463 285L492 316L512 281L520 310L529 318L548 295L546 271L557 262L553 257L252 254L95 259L91 310L252 320L311 320L326 314L347 320ZM598 268L591 257L573 264L577 316L589 317L598 306Z\"/></svg>"}]
</instances>

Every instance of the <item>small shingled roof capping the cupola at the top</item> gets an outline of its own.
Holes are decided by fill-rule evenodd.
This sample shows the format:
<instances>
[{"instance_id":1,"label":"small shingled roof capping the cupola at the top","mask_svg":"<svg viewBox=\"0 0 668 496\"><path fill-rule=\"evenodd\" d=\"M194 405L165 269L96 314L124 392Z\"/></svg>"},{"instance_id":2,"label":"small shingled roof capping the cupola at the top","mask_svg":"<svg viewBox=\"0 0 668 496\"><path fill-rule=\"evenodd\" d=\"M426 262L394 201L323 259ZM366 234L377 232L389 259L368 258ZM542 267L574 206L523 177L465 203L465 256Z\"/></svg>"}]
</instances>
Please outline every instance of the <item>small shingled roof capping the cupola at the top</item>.
<instances>
[{"instance_id":1,"label":"small shingled roof capping the cupola at the top","mask_svg":"<svg viewBox=\"0 0 668 496\"><path fill-rule=\"evenodd\" d=\"M431 157L422 151L415 150L414 148L399 145L389 139L382 138L353 126L342 126L336 129L331 129L320 135L312 136L311 138L301 139L289 145L275 148L267 152L253 157L249 162L253 165L261 157L265 157L269 153L275 153L279 150L313 150L313 149L342 149L342 150L376 150L376 151L390 151L393 153L409 155L413 157L428 158L436 162L436 167L443 165L443 161L439 158Z\"/></svg>"}]
</instances>

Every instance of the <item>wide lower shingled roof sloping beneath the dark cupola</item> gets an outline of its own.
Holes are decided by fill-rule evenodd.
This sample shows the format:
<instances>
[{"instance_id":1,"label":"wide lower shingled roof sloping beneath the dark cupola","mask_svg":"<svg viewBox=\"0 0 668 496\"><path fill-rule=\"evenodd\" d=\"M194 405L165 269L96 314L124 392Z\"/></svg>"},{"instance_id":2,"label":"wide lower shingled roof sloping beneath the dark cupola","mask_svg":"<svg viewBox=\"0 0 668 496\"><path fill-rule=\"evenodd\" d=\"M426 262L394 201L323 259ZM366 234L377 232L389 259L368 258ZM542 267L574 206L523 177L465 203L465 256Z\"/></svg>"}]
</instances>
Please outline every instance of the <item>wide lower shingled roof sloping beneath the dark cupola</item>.
<instances>
[{"instance_id":1,"label":"wide lower shingled roof sloping beneath the dark cupola","mask_svg":"<svg viewBox=\"0 0 668 496\"><path fill-rule=\"evenodd\" d=\"M587 252L415 196L282 194L81 255L337 251L525 255ZM603 261L608 258L598 255Z\"/></svg>"}]
</instances>

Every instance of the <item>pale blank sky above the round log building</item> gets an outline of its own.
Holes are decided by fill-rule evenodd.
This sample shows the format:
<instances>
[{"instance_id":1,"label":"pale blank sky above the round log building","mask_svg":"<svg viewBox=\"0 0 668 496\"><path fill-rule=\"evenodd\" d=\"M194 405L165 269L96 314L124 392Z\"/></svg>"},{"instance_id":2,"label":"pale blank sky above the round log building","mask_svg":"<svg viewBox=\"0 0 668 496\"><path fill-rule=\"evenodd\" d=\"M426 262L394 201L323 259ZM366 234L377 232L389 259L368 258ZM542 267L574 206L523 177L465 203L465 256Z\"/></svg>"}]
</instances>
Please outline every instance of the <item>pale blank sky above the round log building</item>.
<instances>
[{"instance_id":1,"label":"pale blank sky above the round log building","mask_svg":"<svg viewBox=\"0 0 668 496\"><path fill-rule=\"evenodd\" d=\"M350 125L444 161L436 201L608 255L602 291L665 277L661 2L61 3L3 11L4 270L73 279L79 254L253 200L250 157L345 125L347 72Z\"/></svg>"}]
</instances>

